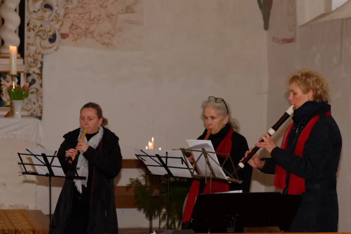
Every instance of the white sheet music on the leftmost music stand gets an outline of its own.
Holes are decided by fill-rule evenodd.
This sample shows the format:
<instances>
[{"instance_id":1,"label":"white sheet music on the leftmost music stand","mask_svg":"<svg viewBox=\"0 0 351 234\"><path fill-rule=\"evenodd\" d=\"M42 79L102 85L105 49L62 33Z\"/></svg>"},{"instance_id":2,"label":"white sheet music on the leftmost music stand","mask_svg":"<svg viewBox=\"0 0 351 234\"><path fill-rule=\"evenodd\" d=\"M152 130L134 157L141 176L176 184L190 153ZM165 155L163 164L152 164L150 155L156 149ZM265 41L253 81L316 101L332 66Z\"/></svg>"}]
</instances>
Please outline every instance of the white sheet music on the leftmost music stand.
<instances>
[{"instance_id":1,"label":"white sheet music on the leftmost music stand","mask_svg":"<svg viewBox=\"0 0 351 234\"><path fill-rule=\"evenodd\" d=\"M33 161L33 164L37 164L40 166L35 166L36 172L38 172L38 174L46 174L49 173L48 168L45 165L45 161L44 158L41 156L41 154L45 154L47 156L54 156L55 151L53 150L43 150L43 149L37 149L37 148L33 148L33 149L27 149L27 151L31 155L31 159ZM34 156L34 155L39 155L39 156ZM52 157L47 157L49 163L52 160ZM41 166L42 165L42 166ZM54 157L54 160L51 163L51 166L59 166L59 167L51 167L52 171L54 172L54 175L56 176L65 176L65 173L62 170L62 166L60 161L58 160L57 157Z\"/></svg>"}]
</instances>

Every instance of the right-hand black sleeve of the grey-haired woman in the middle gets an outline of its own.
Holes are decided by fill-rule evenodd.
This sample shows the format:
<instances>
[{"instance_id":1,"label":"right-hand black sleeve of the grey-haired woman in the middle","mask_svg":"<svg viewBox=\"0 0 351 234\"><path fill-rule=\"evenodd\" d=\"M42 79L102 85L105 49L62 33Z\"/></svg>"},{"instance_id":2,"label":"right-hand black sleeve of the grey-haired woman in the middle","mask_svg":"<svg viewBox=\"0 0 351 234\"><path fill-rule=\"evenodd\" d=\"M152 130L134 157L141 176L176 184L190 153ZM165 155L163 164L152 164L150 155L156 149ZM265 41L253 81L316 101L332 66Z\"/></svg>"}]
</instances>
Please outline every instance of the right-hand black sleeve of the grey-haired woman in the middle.
<instances>
[{"instance_id":1,"label":"right-hand black sleeve of the grey-haired woman in the middle","mask_svg":"<svg viewBox=\"0 0 351 234\"><path fill-rule=\"evenodd\" d=\"M236 138L236 139L235 139ZM235 137L232 141L232 144L234 144L234 150L231 152L231 157L234 163L234 166L236 166L241 158L245 156L246 151L248 151L248 145L246 139L238 135L238 137ZM251 185L251 176L252 176L252 166L249 164L245 165L242 170L239 171L237 174L239 180L242 181L241 184L235 184L231 183L230 188L231 190L242 190L242 192L249 192L250 191L250 185Z\"/></svg>"}]
</instances>

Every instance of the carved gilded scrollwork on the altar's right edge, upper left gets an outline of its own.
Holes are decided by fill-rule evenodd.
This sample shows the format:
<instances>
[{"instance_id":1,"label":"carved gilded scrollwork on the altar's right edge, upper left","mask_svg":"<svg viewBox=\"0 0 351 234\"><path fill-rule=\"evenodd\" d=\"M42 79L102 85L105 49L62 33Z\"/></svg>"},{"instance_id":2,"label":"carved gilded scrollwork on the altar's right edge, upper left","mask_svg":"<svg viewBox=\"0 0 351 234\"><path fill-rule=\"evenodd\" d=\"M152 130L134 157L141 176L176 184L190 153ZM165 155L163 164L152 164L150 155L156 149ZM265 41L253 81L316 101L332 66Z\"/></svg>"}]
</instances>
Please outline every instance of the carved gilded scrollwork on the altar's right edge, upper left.
<instances>
[{"instance_id":1,"label":"carved gilded scrollwork on the altar's right edge, upper left","mask_svg":"<svg viewBox=\"0 0 351 234\"><path fill-rule=\"evenodd\" d=\"M59 48L60 27L65 8L75 7L79 0L28 0L25 65L29 96L24 108L41 118L43 108L43 55Z\"/></svg>"}]
</instances>

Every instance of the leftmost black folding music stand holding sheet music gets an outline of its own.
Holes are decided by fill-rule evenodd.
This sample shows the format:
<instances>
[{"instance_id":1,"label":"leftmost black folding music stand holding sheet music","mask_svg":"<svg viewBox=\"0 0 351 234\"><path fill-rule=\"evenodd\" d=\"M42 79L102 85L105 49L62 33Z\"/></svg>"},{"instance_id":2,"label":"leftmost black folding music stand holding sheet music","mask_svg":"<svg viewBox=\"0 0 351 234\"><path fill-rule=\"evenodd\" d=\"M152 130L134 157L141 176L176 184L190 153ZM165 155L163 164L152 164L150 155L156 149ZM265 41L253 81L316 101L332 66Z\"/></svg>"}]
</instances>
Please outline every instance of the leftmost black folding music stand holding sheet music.
<instances>
[{"instance_id":1,"label":"leftmost black folding music stand holding sheet music","mask_svg":"<svg viewBox=\"0 0 351 234\"><path fill-rule=\"evenodd\" d=\"M85 176L79 176L77 169L79 168L67 168L69 170L74 170L75 175L65 175L63 172L63 167L61 166L58 157L56 156L56 151L52 154L53 151L41 150L41 149L26 149L30 154L18 154L19 165L22 165L24 171L22 175L38 175L38 176L46 176L49 177L49 234L51 234L51 178L59 177L59 178L70 178L70 179L86 179ZM33 154L35 152L36 154ZM52 155L48 155L48 154ZM35 163L24 163L21 156L31 156L32 161ZM51 159L50 159L51 158ZM37 172L27 170L25 165L35 166ZM39 172L40 173L39 173Z\"/></svg>"}]
</instances>

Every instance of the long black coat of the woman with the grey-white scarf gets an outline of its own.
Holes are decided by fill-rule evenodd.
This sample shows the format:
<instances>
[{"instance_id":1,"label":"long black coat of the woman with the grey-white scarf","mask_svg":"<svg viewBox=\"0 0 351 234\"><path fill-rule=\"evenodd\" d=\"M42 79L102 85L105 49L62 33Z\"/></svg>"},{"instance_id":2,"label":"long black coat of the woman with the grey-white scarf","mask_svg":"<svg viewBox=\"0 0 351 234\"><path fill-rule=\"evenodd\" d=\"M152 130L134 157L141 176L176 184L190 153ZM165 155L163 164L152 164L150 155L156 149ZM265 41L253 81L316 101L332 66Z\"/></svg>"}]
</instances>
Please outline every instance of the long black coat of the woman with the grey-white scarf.
<instances>
[{"instance_id":1,"label":"long black coat of the woman with the grey-white scarf","mask_svg":"<svg viewBox=\"0 0 351 234\"><path fill-rule=\"evenodd\" d=\"M66 175L74 175L74 171L68 170L71 164L66 162L65 155L67 150L77 146L79 132L80 129L76 129L65 134L63 136L65 140L57 153ZM104 128L104 136L97 149L89 147L83 154L89 164L88 187L91 189L82 193L82 195L86 194L85 198L88 197L89 220L86 224L88 234L118 233L114 190L114 178L120 171L122 161L118 140L113 132ZM73 162L74 166L77 165L78 155ZM53 215L52 234L63 234L69 221L74 219L73 210L80 209L72 209L77 207L77 201L81 199L77 193L73 179L66 178ZM68 228L68 230L71 229Z\"/></svg>"}]
</instances>

